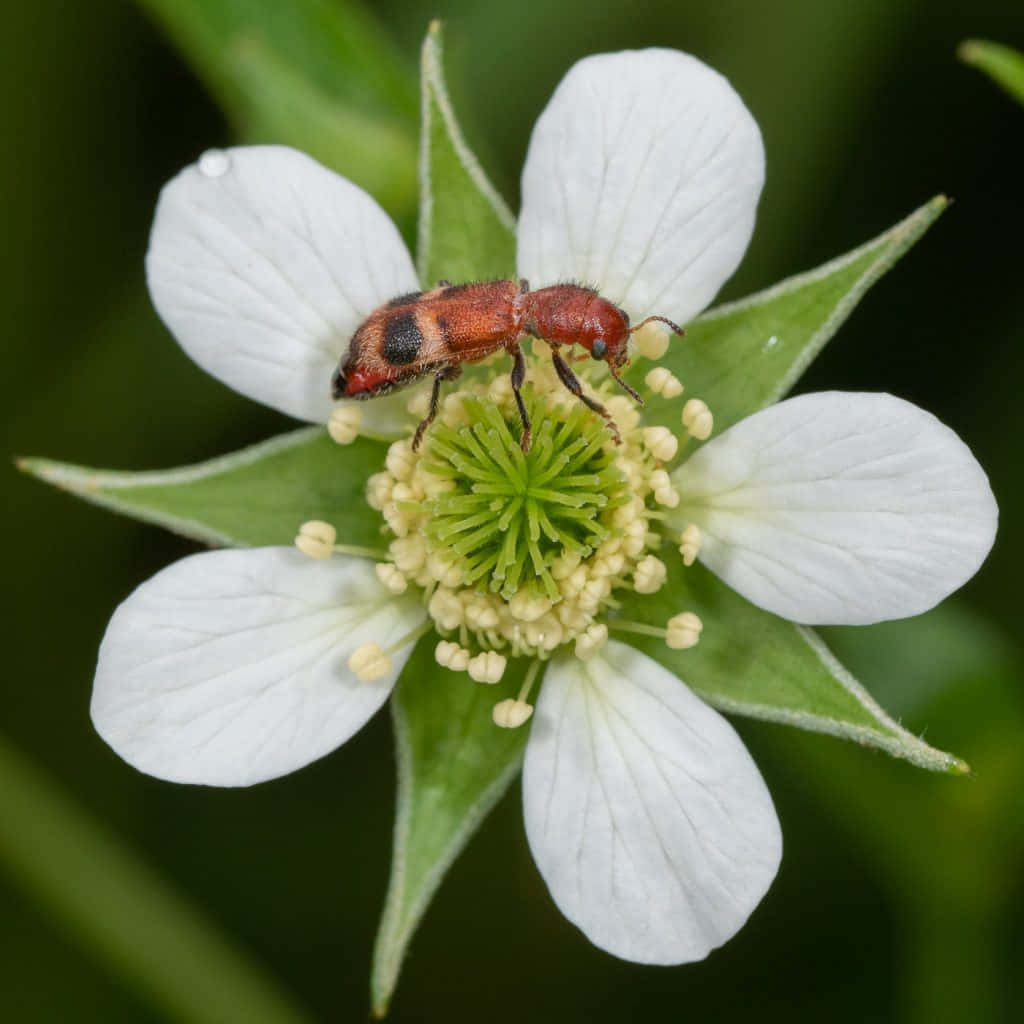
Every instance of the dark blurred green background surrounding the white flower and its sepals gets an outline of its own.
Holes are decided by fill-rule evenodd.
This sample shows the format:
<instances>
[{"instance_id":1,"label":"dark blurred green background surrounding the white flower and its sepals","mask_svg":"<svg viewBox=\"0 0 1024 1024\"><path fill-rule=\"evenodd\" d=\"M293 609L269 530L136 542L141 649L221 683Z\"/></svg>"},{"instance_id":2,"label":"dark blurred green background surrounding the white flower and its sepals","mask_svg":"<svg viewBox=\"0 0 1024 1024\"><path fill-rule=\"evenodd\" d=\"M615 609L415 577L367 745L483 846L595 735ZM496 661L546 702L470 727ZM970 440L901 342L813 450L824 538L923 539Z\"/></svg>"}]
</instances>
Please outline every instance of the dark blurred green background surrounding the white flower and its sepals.
<instances>
[{"instance_id":1,"label":"dark blurred green background surrounding the white flower and its sepals","mask_svg":"<svg viewBox=\"0 0 1024 1024\"><path fill-rule=\"evenodd\" d=\"M289 0L232 6L288 23ZM399 156L415 130L418 48L432 16L447 22L467 133L513 206L530 125L572 60L657 44L723 71L768 154L757 233L727 296L951 195L952 208L801 387L888 390L934 412L988 470L1002 523L988 563L943 609L828 634L890 711L970 761L973 777L932 777L837 740L738 722L782 820L782 868L734 941L678 969L614 961L559 916L513 787L428 911L392 1019L1024 1019L1024 108L954 57L969 36L1024 47L1024 7L383 0L360 10L394 51L380 66L397 69L384 198L410 238ZM286 427L193 367L145 295L161 184L234 137L204 84L127 2L10 4L4 24L4 450L152 468ZM130 898L117 876L100 882L82 862L91 848L60 830L46 790L29 793L35 773L202 908L311 1019L365 1019L393 810L387 717L332 757L249 791L136 774L90 727L95 651L115 605L190 546L10 466L3 473L12 658L0 731L0 1019L174 1016L117 968L88 908L75 918L72 897L33 884L34 859L52 855L69 892ZM173 978L175 964L167 970Z\"/></svg>"}]
</instances>

